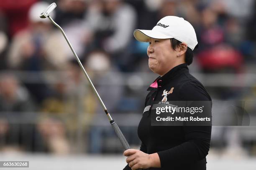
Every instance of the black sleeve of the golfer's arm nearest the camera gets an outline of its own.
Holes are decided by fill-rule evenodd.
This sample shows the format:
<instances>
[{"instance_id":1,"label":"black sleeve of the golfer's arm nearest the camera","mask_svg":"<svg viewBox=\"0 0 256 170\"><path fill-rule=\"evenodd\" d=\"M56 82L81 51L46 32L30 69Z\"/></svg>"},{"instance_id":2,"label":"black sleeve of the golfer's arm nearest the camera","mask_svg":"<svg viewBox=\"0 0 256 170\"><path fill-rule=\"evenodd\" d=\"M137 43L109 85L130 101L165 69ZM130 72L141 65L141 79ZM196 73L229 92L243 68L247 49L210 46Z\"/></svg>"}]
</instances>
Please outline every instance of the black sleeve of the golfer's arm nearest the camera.
<instances>
[{"instance_id":1,"label":"black sleeve of the golfer's arm nearest the camera","mask_svg":"<svg viewBox=\"0 0 256 170\"><path fill-rule=\"evenodd\" d=\"M209 101L211 98L203 86L186 83L180 87L180 101ZM210 110L211 114L211 110ZM211 140L212 126L183 126L185 142L171 148L157 152L161 162L161 168L172 169L173 165L193 163L202 160L208 154Z\"/></svg>"}]
</instances>

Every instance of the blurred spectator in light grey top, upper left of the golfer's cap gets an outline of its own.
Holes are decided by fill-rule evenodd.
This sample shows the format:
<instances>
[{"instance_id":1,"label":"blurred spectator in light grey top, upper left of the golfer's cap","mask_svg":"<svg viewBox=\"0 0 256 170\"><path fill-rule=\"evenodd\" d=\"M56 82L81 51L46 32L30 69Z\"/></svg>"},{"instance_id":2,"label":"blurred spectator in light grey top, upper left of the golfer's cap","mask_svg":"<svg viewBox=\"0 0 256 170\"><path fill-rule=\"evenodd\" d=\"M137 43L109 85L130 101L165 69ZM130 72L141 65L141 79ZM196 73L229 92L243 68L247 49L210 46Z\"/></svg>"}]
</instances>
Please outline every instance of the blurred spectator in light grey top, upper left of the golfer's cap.
<instances>
[{"instance_id":1,"label":"blurred spectator in light grey top, upper left of the golfer's cap","mask_svg":"<svg viewBox=\"0 0 256 170\"><path fill-rule=\"evenodd\" d=\"M90 49L104 49L111 62L129 70L133 57L128 47L136 24L134 8L123 0L93 1L85 22L94 32Z\"/></svg>"}]
</instances>

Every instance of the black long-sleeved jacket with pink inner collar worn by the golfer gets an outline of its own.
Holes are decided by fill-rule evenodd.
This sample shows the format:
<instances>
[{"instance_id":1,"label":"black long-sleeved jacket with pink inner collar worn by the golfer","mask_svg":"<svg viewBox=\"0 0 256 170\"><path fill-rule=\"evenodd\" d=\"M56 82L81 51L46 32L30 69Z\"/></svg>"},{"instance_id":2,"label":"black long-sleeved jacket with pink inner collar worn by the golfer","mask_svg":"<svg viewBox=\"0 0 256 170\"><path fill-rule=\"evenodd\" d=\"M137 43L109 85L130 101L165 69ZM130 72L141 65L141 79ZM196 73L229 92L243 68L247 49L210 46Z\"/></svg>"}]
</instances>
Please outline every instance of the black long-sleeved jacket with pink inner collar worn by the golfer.
<instances>
[{"instance_id":1,"label":"black long-sleeved jacket with pink inner collar worn by the golfer","mask_svg":"<svg viewBox=\"0 0 256 170\"><path fill-rule=\"evenodd\" d=\"M206 170L211 126L151 126L149 115L153 103L163 100L163 91L171 89L168 101L211 101L205 87L189 74L187 64L178 65L164 76L159 76L148 87L150 92L138 125L138 136L142 142L140 150L148 154L158 153L161 168L150 170ZM127 165L124 170L131 168Z\"/></svg>"}]
</instances>

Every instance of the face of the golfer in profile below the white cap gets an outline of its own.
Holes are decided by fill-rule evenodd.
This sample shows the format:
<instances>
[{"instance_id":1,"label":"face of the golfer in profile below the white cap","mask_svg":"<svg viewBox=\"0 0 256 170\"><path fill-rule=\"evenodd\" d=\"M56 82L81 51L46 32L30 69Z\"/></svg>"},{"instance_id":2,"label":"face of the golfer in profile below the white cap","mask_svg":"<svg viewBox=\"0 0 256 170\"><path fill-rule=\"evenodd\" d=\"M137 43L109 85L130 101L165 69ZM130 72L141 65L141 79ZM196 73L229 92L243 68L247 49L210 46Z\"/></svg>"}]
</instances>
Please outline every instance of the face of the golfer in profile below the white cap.
<instances>
[{"instance_id":1,"label":"face of the golfer in profile below the white cap","mask_svg":"<svg viewBox=\"0 0 256 170\"><path fill-rule=\"evenodd\" d=\"M170 39L148 40L148 67L159 75L164 75L177 63L178 52L172 49Z\"/></svg>"}]
</instances>

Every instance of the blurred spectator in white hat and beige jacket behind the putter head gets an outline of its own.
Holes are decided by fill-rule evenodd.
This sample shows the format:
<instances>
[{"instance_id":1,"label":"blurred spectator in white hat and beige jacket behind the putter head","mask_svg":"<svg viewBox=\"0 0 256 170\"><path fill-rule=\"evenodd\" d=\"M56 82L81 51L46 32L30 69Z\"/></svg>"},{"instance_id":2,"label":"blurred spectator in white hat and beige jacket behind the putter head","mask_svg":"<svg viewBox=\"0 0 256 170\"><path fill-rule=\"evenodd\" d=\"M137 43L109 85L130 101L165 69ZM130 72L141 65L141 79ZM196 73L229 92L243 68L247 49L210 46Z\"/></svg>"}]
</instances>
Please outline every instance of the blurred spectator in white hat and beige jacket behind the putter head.
<instances>
[{"instance_id":1,"label":"blurred spectator in white hat and beige jacket behind the putter head","mask_svg":"<svg viewBox=\"0 0 256 170\"><path fill-rule=\"evenodd\" d=\"M68 62L64 48L69 47L67 43L66 46L59 43L64 38L61 39L55 33L50 20L38 17L40 11L46 9L48 5L46 2L37 2L31 7L29 10L30 27L13 37L8 56L10 68L39 73L36 77L40 80L39 84L26 83L26 87L38 103L52 93L46 85L49 77L40 75L41 71L62 70ZM54 17L54 13L51 16Z\"/></svg>"}]
</instances>

